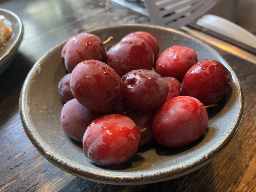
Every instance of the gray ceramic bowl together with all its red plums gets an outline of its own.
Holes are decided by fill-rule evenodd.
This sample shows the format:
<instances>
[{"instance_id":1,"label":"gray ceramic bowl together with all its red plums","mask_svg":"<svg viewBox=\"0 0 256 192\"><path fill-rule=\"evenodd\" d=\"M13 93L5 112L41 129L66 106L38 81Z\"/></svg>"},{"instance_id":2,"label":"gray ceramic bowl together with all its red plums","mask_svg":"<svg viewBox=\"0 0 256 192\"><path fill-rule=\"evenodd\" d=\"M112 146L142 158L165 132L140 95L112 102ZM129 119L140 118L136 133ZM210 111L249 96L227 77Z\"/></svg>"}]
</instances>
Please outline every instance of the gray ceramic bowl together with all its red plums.
<instances>
[{"instance_id":1,"label":"gray ceramic bowl together with all its red plums","mask_svg":"<svg viewBox=\"0 0 256 192\"><path fill-rule=\"evenodd\" d=\"M23 128L46 159L119 185L203 167L233 138L243 110L240 82L218 52L151 25L70 37L33 66L20 95Z\"/></svg>"}]
</instances>

